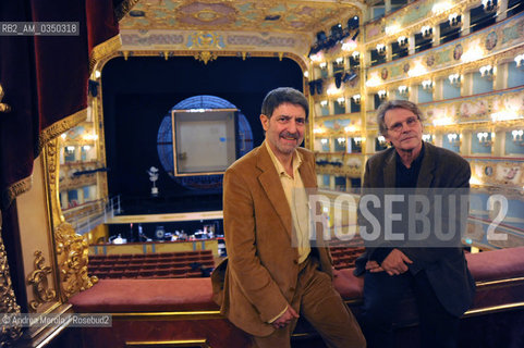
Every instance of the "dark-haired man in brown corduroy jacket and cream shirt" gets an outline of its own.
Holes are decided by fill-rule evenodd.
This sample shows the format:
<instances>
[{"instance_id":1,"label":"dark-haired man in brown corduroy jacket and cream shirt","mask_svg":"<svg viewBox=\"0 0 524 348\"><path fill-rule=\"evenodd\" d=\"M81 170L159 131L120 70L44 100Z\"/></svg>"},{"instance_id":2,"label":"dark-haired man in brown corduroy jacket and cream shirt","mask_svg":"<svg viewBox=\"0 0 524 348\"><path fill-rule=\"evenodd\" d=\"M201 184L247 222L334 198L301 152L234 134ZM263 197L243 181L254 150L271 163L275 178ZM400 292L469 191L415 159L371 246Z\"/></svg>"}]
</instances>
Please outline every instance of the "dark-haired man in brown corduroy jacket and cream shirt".
<instances>
[{"instance_id":1,"label":"dark-haired man in brown corduroy jacket and cream shirt","mask_svg":"<svg viewBox=\"0 0 524 348\"><path fill-rule=\"evenodd\" d=\"M308 103L293 88L264 99L264 144L223 178L229 259L214 272L214 299L255 347L290 347L298 316L329 347L365 347L353 314L332 286L327 248L309 244L307 188L316 187L314 154L304 140Z\"/></svg>"}]
</instances>

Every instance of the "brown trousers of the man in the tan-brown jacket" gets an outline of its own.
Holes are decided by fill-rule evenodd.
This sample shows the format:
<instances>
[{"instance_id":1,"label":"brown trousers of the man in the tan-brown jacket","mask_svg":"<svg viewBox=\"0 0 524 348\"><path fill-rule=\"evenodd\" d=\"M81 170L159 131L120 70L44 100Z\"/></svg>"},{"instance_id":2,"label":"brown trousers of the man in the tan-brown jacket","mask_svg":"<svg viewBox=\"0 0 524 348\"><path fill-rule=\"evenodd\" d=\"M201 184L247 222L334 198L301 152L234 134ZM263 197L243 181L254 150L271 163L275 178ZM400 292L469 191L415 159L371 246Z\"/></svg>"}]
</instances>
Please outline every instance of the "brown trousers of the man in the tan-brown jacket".
<instances>
[{"instance_id":1,"label":"brown trousers of the man in the tan-brown jacket","mask_svg":"<svg viewBox=\"0 0 524 348\"><path fill-rule=\"evenodd\" d=\"M328 347L366 347L358 323L333 288L331 277L318 270L315 258L309 257L301 264L291 306L315 327ZM296 320L269 336L253 336L254 347L289 348L295 326Z\"/></svg>"}]
</instances>

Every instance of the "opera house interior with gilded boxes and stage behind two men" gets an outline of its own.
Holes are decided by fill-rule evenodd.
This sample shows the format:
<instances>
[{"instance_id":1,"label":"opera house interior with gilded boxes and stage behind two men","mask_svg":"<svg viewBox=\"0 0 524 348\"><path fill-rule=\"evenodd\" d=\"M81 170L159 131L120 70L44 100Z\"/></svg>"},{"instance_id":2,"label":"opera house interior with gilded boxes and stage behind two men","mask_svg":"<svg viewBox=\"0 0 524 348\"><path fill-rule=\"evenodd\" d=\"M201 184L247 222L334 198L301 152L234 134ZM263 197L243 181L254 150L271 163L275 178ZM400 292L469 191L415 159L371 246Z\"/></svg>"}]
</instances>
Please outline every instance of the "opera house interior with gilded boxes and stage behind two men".
<instances>
[{"instance_id":1,"label":"opera house interior with gilded boxes and stage behind two men","mask_svg":"<svg viewBox=\"0 0 524 348\"><path fill-rule=\"evenodd\" d=\"M419 105L424 141L472 171L462 247L477 290L460 347L524 347L523 10L521 0L2 1L2 347L248 347L211 299L228 253L222 178L263 144L261 101L282 86L308 100L302 146L330 198L357 199L367 159L390 146L377 108ZM324 207L332 231L354 223L340 209ZM334 287L355 314L364 249L358 236L330 244ZM31 321L10 322L22 314ZM407 298L397 346L417 347L416 327ZM300 321L292 347L326 346Z\"/></svg>"}]
</instances>

